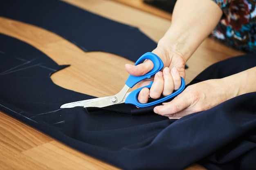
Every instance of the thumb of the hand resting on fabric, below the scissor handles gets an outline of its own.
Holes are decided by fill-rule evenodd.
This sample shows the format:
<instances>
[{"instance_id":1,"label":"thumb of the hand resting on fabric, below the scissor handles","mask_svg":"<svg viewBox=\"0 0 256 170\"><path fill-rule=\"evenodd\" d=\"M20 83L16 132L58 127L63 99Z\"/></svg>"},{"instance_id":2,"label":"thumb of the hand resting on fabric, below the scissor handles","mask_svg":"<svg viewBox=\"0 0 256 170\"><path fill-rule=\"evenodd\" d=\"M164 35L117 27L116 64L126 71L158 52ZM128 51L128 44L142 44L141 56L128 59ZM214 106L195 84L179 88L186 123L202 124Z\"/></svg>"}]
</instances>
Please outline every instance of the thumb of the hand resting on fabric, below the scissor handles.
<instances>
[{"instance_id":1,"label":"thumb of the hand resting on fabric, below the scissor handles","mask_svg":"<svg viewBox=\"0 0 256 170\"><path fill-rule=\"evenodd\" d=\"M181 97L178 95L171 102L164 103L161 106L156 106L154 108L154 112L168 117L181 117L178 113L191 106L191 104L191 100L186 98L186 95L182 95Z\"/></svg>"}]
</instances>

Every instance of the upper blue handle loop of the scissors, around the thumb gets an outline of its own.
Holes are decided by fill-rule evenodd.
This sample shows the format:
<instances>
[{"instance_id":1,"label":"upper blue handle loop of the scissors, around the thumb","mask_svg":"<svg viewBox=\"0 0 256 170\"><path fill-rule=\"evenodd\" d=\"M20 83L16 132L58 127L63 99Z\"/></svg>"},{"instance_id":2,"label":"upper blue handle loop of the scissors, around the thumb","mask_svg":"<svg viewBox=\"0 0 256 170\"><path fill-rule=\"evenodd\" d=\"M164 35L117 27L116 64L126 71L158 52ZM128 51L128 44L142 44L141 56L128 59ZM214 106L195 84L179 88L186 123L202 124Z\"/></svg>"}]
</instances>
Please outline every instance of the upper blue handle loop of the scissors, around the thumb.
<instances>
[{"instance_id":1,"label":"upper blue handle loop of the scissors, around the thumb","mask_svg":"<svg viewBox=\"0 0 256 170\"><path fill-rule=\"evenodd\" d=\"M141 64L146 59L151 60L154 63L154 68L142 76L129 75L125 84L130 88L132 88L135 84L137 84L141 80L149 79L152 75L155 75L158 71L160 71L164 67L164 63L162 62L162 60L157 55L151 52L147 52L141 55L141 57L139 57L139 59L135 62L134 65L136 66L138 64Z\"/></svg>"}]
</instances>

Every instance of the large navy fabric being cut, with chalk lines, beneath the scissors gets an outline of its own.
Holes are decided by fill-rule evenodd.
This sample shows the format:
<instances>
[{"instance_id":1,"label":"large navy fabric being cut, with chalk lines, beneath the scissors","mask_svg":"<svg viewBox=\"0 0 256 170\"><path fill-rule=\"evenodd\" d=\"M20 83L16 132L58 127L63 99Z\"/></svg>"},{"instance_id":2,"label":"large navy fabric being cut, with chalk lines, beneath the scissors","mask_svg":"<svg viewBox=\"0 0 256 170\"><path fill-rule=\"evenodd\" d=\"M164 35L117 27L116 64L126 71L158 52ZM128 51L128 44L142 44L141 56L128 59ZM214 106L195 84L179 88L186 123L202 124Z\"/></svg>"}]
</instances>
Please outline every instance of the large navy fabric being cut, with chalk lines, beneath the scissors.
<instances>
[{"instance_id":1,"label":"large navy fabric being cut, with chalk lines, beneath the scissors","mask_svg":"<svg viewBox=\"0 0 256 170\"><path fill-rule=\"evenodd\" d=\"M210 66L192 82L256 65L254 55ZM55 139L127 170L182 170L200 163L209 170L254 170L256 93L209 110L168 119L134 106L60 109L88 96L55 85L49 75L64 68L33 46L0 34L0 110ZM90 71L90 70L85 70Z\"/></svg>"}]
</instances>

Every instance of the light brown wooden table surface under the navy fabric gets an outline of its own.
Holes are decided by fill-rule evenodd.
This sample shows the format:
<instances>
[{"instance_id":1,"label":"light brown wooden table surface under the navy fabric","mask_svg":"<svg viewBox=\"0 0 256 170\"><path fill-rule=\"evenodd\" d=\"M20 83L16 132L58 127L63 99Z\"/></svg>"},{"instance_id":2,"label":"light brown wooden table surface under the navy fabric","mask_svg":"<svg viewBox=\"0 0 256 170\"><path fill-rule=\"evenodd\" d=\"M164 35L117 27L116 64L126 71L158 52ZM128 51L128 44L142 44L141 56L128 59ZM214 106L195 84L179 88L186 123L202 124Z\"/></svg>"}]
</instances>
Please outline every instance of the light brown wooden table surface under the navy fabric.
<instances>
[{"instance_id":1,"label":"light brown wooden table surface under the navy fabric","mask_svg":"<svg viewBox=\"0 0 256 170\"><path fill-rule=\"evenodd\" d=\"M170 14L167 14L166 17L159 17L152 12L154 11L152 7L149 7L150 10L146 12L141 10L143 8L141 0L64 1L117 22L139 27L142 32L156 42L171 24ZM130 2L129 5L127 5L128 2ZM157 11L159 9L155 9L155 13ZM133 64L133 62L111 53L84 52L52 32L3 17L0 17L0 33L35 46L59 65L71 64L70 67L54 73L51 76L52 80L59 86L88 95L103 97L117 93L128 77L124 64ZM218 44L211 39L205 40L187 62L189 68L186 70L186 83L207 66L240 54L243 53ZM90 69L89 74L88 72L83 73L85 67ZM108 86L105 86L106 84ZM0 169L115 170L118 168L74 150L0 112ZM203 170L204 168L193 165L187 169Z\"/></svg>"}]
</instances>

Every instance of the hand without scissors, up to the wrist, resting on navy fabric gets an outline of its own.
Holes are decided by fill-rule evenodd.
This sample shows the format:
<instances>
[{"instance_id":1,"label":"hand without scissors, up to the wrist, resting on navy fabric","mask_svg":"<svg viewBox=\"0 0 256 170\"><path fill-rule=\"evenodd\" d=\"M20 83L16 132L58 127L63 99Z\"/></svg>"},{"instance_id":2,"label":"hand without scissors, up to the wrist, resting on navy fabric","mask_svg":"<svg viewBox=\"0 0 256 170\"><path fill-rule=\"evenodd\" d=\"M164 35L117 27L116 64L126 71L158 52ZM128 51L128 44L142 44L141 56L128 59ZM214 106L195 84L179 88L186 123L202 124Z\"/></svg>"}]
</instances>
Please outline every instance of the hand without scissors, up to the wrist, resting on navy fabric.
<instances>
[{"instance_id":1,"label":"hand without scissors, up to the wrist, resting on navy fabric","mask_svg":"<svg viewBox=\"0 0 256 170\"><path fill-rule=\"evenodd\" d=\"M179 119L191 113L207 110L234 97L223 79L210 79L188 86L171 102L156 106L154 112ZM228 93L230 92L230 93Z\"/></svg>"}]
</instances>

